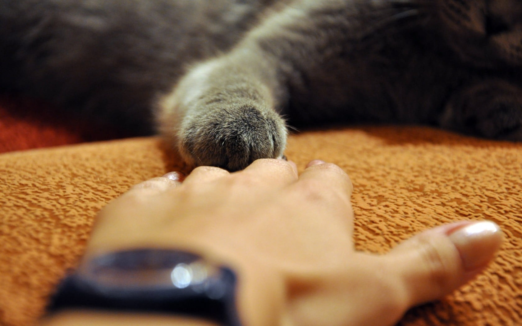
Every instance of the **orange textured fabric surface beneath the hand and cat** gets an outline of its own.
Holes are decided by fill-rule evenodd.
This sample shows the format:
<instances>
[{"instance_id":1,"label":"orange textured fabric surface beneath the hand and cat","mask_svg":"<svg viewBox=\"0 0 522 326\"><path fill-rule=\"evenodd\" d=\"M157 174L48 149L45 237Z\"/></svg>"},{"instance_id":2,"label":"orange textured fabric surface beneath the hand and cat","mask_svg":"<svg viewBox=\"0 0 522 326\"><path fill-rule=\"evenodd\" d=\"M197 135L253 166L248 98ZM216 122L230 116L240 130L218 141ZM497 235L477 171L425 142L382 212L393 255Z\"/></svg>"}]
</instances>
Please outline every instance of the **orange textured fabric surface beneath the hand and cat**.
<instances>
[{"instance_id":1,"label":"orange textured fabric surface beneath the hand and cat","mask_svg":"<svg viewBox=\"0 0 522 326\"><path fill-rule=\"evenodd\" d=\"M363 127L302 132L290 137L286 154L301 170L318 158L350 174L360 250L385 252L451 221L501 225L505 243L487 272L412 309L401 325L522 325L522 144L420 127ZM0 324L30 325L42 314L106 202L178 169L179 158L157 138L0 155Z\"/></svg>"}]
</instances>

